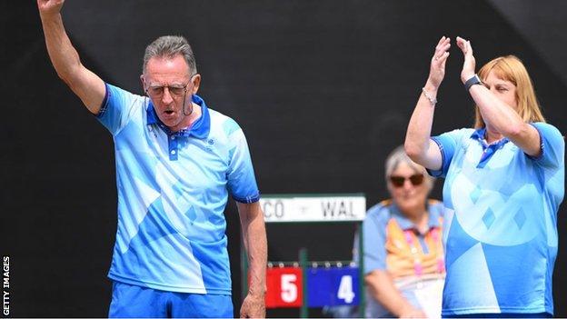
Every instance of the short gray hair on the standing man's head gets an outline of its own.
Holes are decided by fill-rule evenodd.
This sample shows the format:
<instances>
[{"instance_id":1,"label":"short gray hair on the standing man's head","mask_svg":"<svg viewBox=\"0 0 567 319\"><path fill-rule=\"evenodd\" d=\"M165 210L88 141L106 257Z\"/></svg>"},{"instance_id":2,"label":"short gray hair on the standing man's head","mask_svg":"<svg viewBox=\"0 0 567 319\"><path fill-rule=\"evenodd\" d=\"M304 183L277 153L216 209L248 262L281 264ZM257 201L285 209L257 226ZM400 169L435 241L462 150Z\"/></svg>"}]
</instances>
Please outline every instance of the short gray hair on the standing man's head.
<instances>
[{"instance_id":1,"label":"short gray hair on the standing man's head","mask_svg":"<svg viewBox=\"0 0 567 319\"><path fill-rule=\"evenodd\" d=\"M148 61L153 57L173 58L175 55L183 55L185 62L189 65L189 74L197 73L197 64L195 62L194 53L187 39L181 35L164 35L155 39L145 48L144 67L142 73L145 75L145 69Z\"/></svg>"}]
</instances>

